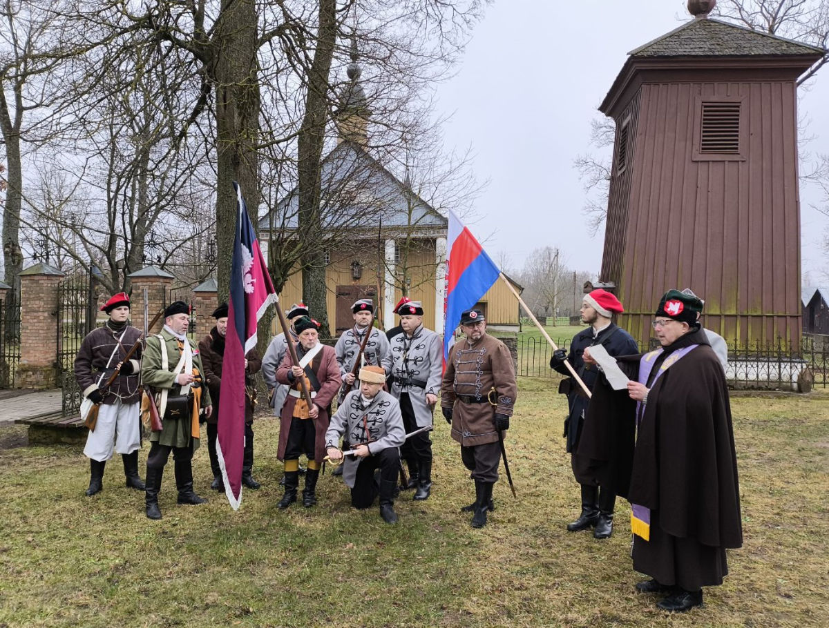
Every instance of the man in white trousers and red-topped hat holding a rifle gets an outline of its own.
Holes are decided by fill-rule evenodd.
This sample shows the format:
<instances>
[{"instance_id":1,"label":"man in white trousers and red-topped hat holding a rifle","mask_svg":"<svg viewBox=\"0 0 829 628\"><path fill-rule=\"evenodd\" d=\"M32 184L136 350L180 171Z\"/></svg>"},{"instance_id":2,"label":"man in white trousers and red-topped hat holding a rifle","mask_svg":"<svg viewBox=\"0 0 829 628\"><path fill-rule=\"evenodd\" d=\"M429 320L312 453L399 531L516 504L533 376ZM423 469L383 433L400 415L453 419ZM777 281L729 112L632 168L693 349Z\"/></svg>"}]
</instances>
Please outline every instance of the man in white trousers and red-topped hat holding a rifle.
<instances>
[{"instance_id":1,"label":"man in white trousers and red-topped hat holding a rifle","mask_svg":"<svg viewBox=\"0 0 829 628\"><path fill-rule=\"evenodd\" d=\"M129 297L119 292L104 303L101 311L109 315L104 326L90 331L75 357L75 379L84 397L98 406L98 419L86 438L84 454L90 458L90 487L86 495L102 488L104 466L113 451L121 454L127 487L144 490L138 476L138 449L141 428L138 423L138 360L141 348L124 361L129 350L141 340L141 331L128 325ZM118 374L108 387L104 384Z\"/></svg>"}]
</instances>

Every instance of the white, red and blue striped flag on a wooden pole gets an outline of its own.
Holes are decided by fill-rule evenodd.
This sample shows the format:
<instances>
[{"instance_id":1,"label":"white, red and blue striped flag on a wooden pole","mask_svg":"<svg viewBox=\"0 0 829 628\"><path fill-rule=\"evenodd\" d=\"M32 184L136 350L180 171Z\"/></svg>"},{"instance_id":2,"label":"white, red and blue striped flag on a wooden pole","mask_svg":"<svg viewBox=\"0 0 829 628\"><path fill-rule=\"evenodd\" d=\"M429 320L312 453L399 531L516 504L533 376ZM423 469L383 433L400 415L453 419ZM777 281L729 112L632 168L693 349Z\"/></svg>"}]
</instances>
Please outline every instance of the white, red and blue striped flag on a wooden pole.
<instances>
[{"instance_id":1,"label":"white, red and blue striped flag on a wooden pole","mask_svg":"<svg viewBox=\"0 0 829 628\"><path fill-rule=\"evenodd\" d=\"M449 341L460 324L461 313L474 307L501 274L475 236L458 220L458 216L451 210L448 213L444 364L449 356Z\"/></svg>"}]
</instances>

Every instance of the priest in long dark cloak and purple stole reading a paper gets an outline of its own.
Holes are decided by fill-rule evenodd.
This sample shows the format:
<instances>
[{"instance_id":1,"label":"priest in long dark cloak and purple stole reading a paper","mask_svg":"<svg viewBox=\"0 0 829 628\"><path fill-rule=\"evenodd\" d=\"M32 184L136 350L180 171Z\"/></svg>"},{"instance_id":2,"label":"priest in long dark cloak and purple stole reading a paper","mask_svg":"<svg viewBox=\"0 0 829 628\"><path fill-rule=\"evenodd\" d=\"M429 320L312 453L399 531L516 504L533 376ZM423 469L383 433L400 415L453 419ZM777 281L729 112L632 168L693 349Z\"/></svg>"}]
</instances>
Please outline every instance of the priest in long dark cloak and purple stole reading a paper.
<instances>
[{"instance_id":1,"label":"priest in long dark cloak and purple stole reading a paper","mask_svg":"<svg viewBox=\"0 0 829 628\"><path fill-rule=\"evenodd\" d=\"M743 544L728 389L701 309L677 290L662 297L661 348L617 358L628 389L594 387L579 445L585 468L633 505L633 568L652 577L637 589L667 594L666 611L701 606L702 587L728 574L725 549Z\"/></svg>"}]
</instances>

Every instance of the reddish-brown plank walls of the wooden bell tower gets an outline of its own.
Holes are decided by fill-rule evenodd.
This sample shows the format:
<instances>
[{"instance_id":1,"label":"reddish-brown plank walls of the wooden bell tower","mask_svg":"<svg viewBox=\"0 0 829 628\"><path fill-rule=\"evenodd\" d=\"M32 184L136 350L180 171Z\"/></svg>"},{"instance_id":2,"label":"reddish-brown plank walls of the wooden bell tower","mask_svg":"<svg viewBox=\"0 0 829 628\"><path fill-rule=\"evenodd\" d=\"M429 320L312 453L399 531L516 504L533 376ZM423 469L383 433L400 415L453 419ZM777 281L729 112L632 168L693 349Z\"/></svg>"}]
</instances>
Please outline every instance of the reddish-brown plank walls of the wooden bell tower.
<instances>
[{"instance_id":1,"label":"reddish-brown plank walls of the wooden bell tower","mask_svg":"<svg viewBox=\"0 0 829 628\"><path fill-rule=\"evenodd\" d=\"M744 97L744 161L692 160L700 95ZM662 294L691 287L705 299L705 326L726 340L797 346L794 81L644 82L617 133L628 114L628 168L611 182L601 277L618 286L620 324L646 341Z\"/></svg>"}]
</instances>

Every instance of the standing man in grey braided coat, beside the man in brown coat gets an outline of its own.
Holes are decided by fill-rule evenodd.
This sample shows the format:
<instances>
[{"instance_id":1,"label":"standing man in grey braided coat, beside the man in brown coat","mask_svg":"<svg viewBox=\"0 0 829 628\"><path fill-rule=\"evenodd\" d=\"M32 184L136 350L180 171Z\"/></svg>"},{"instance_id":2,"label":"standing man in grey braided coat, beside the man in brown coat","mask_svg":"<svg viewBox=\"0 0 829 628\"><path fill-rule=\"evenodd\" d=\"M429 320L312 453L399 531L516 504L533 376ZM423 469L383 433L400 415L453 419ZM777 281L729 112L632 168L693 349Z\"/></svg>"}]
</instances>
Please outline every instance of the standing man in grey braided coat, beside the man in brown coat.
<instances>
[{"instance_id":1,"label":"standing man in grey braided coat, beside the man in brown coat","mask_svg":"<svg viewBox=\"0 0 829 628\"><path fill-rule=\"evenodd\" d=\"M438 403L443 375L443 345L440 336L423 326L423 306L419 301L402 304L403 328L390 340L391 351L383 360L393 384L391 394L400 399L406 433L431 427L434 406ZM429 432L410 437L400 448L405 460L418 472L414 500L427 500L432 490L432 441Z\"/></svg>"}]
</instances>

